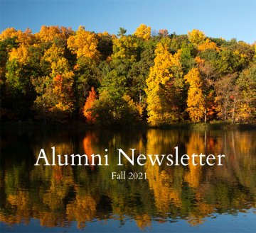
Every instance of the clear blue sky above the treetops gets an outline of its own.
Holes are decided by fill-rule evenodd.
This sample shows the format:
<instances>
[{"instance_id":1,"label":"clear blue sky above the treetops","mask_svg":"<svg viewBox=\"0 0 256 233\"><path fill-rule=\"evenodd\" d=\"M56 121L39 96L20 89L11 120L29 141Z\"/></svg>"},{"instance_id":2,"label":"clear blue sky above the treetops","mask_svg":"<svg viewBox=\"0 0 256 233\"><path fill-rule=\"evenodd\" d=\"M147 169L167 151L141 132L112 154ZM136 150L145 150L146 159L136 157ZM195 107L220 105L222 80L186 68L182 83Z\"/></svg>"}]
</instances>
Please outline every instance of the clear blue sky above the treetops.
<instances>
[{"instance_id":1,"label":"clear blue sky above the treetops","mask_svg":"<svg viewBox=\"0 0 256 233\"><path fill-rule=\"evenodd\" d=\"M0 0L0 31L31 28L38 33L42 25L73 30L85 25L85 30L95 33L117 34L122 27L132 34L140 24L178 35L198 29L208 37L237 38L252 44L256 40L256 0Z\"/></svg>"}]
</instances>

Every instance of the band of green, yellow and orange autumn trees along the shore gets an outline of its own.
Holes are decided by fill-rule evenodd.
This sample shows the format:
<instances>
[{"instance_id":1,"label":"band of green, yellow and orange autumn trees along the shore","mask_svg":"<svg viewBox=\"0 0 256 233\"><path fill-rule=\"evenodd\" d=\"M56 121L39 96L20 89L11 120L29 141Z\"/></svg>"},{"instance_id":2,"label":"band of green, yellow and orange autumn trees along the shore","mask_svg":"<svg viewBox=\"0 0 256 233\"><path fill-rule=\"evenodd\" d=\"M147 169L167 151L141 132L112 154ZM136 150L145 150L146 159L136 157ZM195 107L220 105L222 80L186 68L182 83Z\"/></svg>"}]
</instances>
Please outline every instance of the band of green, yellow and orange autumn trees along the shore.
<instances>
[{"instance_id":1,"label":"band of green, yellow and orange autumn trees along the shore","mask_svg":"<svg viewBox=\"0 0 256 233\"><path fill-rule=\"evenodd\" d=\"M157 32L0 35L0 121L88 125L253 123L256 42Z\"/></svg>"}]
</instances>

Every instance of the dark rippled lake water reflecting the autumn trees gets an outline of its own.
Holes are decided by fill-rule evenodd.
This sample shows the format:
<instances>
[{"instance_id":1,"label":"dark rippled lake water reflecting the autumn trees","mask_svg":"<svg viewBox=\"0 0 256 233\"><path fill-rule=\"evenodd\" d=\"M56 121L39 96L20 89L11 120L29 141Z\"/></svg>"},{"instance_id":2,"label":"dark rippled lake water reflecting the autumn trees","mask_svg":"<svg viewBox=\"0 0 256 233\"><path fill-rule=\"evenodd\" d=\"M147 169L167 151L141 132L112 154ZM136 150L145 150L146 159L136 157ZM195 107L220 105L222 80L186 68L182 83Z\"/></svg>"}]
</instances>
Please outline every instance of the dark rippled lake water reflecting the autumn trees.
<instances>
[{"instance_id":1,"label":"dark rippled lake water reflecting the autumn trees","mask_svg":"<svg viewBox=\"0 0 256 233\"><path fill-rule=\"evenodd\" d=\"M108 154L110 166L34 166L41 149L53 163L52 147L56 164L58 154L69 164L70 154L87 154L90 164L91 154L102 164ZM174 147L178 159L225 154L223 166L200 166L199 157L198 166L167 166L166 157L152 166L148 156L137 163L139 154L174 154L176 163ZM124 157L117 166L117 149L130 159L136 149L134 166ZM121 171L125 179L112 179ZM0 232L81 230L256 232L256 131L1 130Z\"/></svg>"}]
</instances>

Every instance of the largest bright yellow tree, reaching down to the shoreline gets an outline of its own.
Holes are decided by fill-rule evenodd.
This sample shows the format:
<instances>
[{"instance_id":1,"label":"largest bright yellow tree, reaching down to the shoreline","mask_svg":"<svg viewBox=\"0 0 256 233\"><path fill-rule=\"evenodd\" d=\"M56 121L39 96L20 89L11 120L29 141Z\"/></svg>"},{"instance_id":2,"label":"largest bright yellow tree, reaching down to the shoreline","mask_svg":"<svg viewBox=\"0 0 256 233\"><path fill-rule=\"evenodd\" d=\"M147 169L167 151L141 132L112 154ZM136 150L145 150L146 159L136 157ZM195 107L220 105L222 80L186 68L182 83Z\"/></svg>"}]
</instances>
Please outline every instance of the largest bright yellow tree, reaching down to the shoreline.
<instances>
[{"instance_id":1,"label":"largest bright yellow tree, reaching down to the shoreline","mask_svg":"<svg viewBox=\"0 0 256 233\"><path fill-rule=\"evenodd\" d=\"M145 90L148 103L148 120L151 125L171 123L178 120L173 106L167 104L169 96L166 93L165 86L170 82L173 84L175 81L176 77L174 77L174 72L171 71L172 67L176 68L176 73L182 74L180 50L175 55L171 55L169 47L159 42L156 45L155 54L154 67L150 68L149 78L146 79L148 88Z\"/></svg>"}]
</instances>

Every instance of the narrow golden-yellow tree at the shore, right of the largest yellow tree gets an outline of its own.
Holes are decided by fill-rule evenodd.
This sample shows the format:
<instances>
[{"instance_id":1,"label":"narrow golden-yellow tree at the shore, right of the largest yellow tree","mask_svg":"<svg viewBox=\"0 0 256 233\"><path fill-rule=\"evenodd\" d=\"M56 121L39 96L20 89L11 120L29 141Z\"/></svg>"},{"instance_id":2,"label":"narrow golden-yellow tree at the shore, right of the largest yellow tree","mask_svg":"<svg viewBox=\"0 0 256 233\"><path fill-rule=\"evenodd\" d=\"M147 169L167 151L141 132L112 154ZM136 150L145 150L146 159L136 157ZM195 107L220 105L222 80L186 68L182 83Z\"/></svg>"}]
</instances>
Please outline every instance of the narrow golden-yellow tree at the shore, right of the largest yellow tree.
<instances>
[{"instance_id":1,"label":"narrow golden-yellow tree at the shore, right of the largest yellow tree","mask_svg":"<svg viewBox=\"0 0 256 233\"><path fill-rule=\"evenodd\" d=\"M198 68L192 68L184 77L186 83L189 84L187 111L193 122L200 121L203 118L203 77Z\"/></svg>"}]
</instances>

